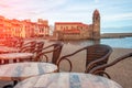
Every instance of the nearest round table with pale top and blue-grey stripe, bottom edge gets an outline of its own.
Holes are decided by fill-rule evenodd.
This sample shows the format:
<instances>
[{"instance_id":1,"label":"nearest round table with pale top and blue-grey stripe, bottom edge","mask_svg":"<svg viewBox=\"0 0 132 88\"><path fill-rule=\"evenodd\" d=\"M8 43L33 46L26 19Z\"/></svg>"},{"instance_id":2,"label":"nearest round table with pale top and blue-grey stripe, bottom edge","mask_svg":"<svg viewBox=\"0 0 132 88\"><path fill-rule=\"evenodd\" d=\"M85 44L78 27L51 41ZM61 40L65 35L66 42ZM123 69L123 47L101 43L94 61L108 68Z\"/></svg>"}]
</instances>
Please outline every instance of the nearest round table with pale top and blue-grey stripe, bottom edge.
<instances>
[{"instance_id":1,"label":"nearest round table with pale top and blue-grey stripe, bottom edge","mask_svg":"<svg viewBox=\"0 0 132 88\"><path fill-rule=\"evenodd\" d=\"M105 77L82 73L54 73L28 78L14 88L122 88Z\"/></svg>"}]
</instances>

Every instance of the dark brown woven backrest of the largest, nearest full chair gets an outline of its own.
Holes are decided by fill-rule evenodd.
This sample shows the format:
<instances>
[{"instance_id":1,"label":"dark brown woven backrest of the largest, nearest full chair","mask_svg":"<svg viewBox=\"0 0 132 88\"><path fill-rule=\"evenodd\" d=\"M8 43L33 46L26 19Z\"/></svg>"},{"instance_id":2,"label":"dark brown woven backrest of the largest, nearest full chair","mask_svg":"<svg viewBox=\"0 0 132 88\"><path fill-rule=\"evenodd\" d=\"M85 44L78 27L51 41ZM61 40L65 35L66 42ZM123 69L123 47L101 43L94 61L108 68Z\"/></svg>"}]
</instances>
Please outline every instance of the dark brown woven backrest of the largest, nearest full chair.
<instances>
[{"instance_id":1,"label":"dark brown woven backrest of the largest, nearest full chair","mask_svg":"<svg viewBox=\"0 0 132 88\"><path fill-rule=\"evenodd\" d=\"M87 50L87 59L86 59L86 69L88 72L87 66L89 63L95 62L95 65L90 66L89 69L97 67L99 65L103 65L108 63L108 58L110 54L112 53L112 48L109 45L105 44L96 44L86 47Z\"/></svg>"}]
</instances>

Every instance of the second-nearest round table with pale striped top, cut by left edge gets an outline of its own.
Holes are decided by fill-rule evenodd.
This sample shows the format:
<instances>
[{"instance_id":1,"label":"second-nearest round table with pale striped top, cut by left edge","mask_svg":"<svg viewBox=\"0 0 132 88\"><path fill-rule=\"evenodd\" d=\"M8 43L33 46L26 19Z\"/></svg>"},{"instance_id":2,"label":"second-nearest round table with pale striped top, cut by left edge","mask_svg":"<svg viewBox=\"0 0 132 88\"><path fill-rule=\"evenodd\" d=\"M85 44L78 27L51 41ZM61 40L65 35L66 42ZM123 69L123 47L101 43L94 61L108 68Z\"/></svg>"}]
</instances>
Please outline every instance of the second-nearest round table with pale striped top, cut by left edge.
<instances>
[{"instance_id":1,"label":"second-nearest round table with pale striped top, cut by left edge","mask_svg":"<svg viewBox=\"0 0 132 88\"><path fill-rule=\"evenodd\" d=\"M13 80L14 85L25 78L57 72L51 63L24 62L0 65L0 80Z\"/></svg>"}]
</instances>

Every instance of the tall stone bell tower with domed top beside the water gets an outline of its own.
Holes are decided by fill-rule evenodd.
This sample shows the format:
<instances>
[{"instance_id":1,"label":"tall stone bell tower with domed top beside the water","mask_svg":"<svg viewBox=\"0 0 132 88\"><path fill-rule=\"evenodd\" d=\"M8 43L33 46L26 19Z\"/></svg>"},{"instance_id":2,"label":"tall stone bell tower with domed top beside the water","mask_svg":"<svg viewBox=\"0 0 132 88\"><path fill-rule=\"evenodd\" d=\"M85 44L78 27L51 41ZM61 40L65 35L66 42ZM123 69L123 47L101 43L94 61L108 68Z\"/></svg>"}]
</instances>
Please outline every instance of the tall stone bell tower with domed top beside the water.
<instances>
[{"instance_id":1,"label":"tall stone bell tower with domed top beside the water","mask_svg":"<svg viewBox=\"0 0 132 88\"><path fill-rule=\"evenodd\" d=\"M92 14L92 38L100 38L100 13L98 10L95 10Z\"/></svg>"}]
</instances>

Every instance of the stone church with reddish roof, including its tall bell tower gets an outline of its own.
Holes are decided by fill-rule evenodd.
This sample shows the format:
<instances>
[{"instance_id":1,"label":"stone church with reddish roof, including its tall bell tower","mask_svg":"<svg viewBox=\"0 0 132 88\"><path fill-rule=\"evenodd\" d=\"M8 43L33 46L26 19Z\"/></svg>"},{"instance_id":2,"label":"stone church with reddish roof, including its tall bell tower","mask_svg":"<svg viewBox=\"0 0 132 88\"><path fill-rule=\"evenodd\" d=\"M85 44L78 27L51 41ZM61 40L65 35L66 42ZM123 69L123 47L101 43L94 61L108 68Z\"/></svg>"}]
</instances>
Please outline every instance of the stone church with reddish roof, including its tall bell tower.
<instances>
[{"instance_id":1,"label":"stone church with reddish roof, including its tall bell tower","mask_svg":"<svg viewBox=\"0 0 132 88\"><path fill-rule=\"evenodd\" d=\"M81 22L55 22L55 36L58 40L99 40L100 38L100 13L94 11L92 24Z\"/></svg>"}]
</instances>

